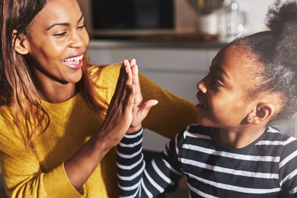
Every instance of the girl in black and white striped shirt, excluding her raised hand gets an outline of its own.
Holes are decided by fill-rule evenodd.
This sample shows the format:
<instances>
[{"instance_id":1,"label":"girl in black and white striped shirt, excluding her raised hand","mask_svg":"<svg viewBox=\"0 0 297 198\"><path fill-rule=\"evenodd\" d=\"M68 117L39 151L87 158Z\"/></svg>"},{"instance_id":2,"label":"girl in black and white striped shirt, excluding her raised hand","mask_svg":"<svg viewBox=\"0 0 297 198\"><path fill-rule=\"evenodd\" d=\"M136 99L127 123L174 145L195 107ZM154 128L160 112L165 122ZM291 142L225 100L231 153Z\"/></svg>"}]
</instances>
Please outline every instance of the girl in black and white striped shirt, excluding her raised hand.
<instances>
[{"instance_id":1,"label":"girl in black and white striped shirt, excluding her raised hand","mask_svg":"<svg viewBox=\"0 0 297 198\"><path fill-rule=\"evenodd\" d=\"M123 197L153 197L185 175L189 197L297 197L297 1L276 1L263 31L235 39L198 85L197 120L146 165L142 129L118 145ZM133 118L134 119L134 118Z\"/></svg>"}]
</instances>

